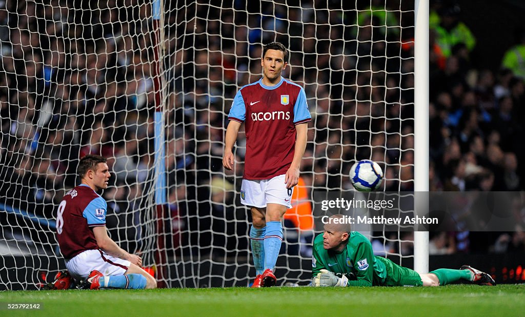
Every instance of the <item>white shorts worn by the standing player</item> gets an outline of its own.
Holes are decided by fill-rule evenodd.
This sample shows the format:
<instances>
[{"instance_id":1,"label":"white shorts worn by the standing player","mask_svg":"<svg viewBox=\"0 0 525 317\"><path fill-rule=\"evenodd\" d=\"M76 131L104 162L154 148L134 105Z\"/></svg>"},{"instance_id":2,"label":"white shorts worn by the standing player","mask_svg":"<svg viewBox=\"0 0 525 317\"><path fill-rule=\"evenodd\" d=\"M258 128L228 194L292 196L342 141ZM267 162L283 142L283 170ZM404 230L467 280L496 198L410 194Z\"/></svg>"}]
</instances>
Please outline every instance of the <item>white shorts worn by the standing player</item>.
<instances>
[{"instance_id":1,"label":"white shorts worn by the standing player","mask_svg":"<svg viewBox=\"0 0 525 317\"><path fill-rule=\"evenodd\" d=\"M286 188L285 176L279 175L258 181L243 179L240 186L240 202L257 208L264 208L268 203L291 208L293 188Z\"/></svg>"}]
</instances>

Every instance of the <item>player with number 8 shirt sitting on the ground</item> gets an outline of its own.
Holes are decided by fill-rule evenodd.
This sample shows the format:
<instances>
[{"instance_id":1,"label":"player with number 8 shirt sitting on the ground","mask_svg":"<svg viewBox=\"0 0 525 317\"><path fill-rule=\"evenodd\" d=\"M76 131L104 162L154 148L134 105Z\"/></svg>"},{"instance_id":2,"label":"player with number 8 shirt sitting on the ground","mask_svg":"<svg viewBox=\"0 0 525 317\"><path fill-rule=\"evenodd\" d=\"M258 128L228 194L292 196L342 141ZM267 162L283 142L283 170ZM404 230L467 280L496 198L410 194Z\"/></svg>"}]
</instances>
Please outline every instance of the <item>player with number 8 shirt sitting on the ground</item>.
<instances>
[{"instance_id":1,"label":"player with number 8 shirt sitting on the ground","mask_svg":"<svg viewBox=\"0 0 525 317\"><path fill-rule=\"evenodd\" d=\"M97 191L108 188L106 158L86 155L78 164L81 184L62 198L57 210L57 240L66 267L81 288L152 289L156 280L142 258L120 248L106 229L107 203Z\"/></svg>"}]
</instances>

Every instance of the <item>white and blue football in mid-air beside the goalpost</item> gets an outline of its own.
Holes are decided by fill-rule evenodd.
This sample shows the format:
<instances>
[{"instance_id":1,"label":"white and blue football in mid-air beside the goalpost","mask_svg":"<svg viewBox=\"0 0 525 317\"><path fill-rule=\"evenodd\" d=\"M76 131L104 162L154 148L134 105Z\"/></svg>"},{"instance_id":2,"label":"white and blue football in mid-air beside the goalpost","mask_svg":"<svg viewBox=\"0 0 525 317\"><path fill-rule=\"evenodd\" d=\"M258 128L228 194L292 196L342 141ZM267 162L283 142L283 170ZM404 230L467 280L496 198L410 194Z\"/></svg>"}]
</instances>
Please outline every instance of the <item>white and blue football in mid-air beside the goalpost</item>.
<instances>
[{"instance_id":1,"label":"white and blue football in mid-air beside the goalpost","mask_svg":"<svg viewBox=\"0 0 525 317\"><path fill-rule=\"evenodd\" d=\"M360 192L375 191L381 186L383 171L374 161L361 160L350 168L350 181Z\"/></svg>"}]
</instances>

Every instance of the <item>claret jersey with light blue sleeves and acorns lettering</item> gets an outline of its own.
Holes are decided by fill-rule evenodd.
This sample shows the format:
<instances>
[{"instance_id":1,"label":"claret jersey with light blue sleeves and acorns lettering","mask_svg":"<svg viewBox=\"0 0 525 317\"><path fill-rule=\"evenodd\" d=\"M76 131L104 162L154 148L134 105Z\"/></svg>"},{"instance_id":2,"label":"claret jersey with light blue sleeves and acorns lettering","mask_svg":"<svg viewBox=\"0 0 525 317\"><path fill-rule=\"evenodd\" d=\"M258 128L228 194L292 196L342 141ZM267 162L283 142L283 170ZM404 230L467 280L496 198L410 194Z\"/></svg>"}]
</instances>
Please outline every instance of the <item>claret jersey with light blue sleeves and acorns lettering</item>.
<instances>
[{"instance_id":1,"label":"claret jersey with light blue sleeves and acorns lettering","mask_svg":"<svg viewBox=\"0 0 525 317\"><path fill-rule=\"evenodd\" d=\"M295 125L311 120L306 93L281 77L275 86L262 79L237 92L229 120L245 123L245 179L269 179L286 174L295 151Z\"/></svg>"}]
</instances>

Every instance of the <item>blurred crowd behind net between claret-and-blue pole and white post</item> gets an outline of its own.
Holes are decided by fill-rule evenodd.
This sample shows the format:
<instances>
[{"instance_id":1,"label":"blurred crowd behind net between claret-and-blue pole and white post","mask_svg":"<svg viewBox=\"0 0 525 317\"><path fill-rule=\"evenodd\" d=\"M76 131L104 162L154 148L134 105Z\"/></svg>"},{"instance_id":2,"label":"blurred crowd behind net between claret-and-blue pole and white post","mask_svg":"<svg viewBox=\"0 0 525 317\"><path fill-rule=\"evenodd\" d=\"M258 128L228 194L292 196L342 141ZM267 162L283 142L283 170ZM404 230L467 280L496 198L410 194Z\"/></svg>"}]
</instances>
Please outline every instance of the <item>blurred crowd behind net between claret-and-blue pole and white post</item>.
<instances>
[{"instance_id":1,"label":"blurred crowd behind net between claret-and-blue pole and white post","mask_svg":"<svg viewBox=\"0 0 525 317\"><path fill-rule=\"evenodd\" d=\"M363 3L359 15L350 10L355 9L353 3L298 1L259 7L256 2L235 2L233 9L225 9L223 3L222 9L199 7L185 29L175 30L183 47L171 63L175 102L170 103L174 115L169 117L175 118L172 148L186 154L170 168L169 182L186 188L185 196L176 197L178 212L187 213L183 209L191 210L194 200L208 204L211 199L212 217L208 209L199 207L199 226L204 224L202 219L213 219L212 232L246 233L242 221L233 225L222 220L246 219L235 195L240 189L246 140L241 130L235 169L224 171L225 115L237 90L261 77L261 43L274 40L290 48L290 67L283 76L304 87L312 114L301 166L308 198L314 189L350 189L348 175L356 158L372 158L386 167L385 188L413 188L413 46L401 45L412 39L413 27L408 11L401 17L381 3L373 1L372 7L370 2ZM174 20L177 25L181 22ZM188 33L188 29L194 31ZM195 66L188 68L193 62ZM207 186L200 186L209 182L225 185L211 186L209 193ZM214 188L232 189L215 195ZM190 232L198 228L204 241L213 235L202 234L202 227L191 222L188 226ZM311 231L299 230L297 237L293 229L297 224L285 221L285 227L287 240L294 237L310 244ZM227 246L245 243L229 235L226 240ZM217 241L217 246L224 245ZM192 245L202 246L196 241Z\"/></svg>"}]
</instances>

